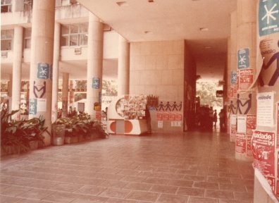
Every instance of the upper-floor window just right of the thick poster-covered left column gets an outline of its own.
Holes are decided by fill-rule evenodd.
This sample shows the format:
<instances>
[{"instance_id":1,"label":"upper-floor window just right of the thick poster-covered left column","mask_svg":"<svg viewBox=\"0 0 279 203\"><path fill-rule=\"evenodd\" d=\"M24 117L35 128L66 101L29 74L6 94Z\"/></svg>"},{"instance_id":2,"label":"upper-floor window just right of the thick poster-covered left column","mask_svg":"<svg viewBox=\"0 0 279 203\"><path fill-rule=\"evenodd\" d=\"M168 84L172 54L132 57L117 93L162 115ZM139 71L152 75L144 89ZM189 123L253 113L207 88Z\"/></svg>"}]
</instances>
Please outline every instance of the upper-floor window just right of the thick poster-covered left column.
<instances>
[{"instance_id":1,"label":"upper-floor window just right of the thick poster-covered left column","mask_svg":"<svg viewBox=\"0 0 279 203\"><path fill-rule=\"evenodd\" d=\"M61 25L61 46L87 45L88 23Z\"/></svg>"}]
</instances>

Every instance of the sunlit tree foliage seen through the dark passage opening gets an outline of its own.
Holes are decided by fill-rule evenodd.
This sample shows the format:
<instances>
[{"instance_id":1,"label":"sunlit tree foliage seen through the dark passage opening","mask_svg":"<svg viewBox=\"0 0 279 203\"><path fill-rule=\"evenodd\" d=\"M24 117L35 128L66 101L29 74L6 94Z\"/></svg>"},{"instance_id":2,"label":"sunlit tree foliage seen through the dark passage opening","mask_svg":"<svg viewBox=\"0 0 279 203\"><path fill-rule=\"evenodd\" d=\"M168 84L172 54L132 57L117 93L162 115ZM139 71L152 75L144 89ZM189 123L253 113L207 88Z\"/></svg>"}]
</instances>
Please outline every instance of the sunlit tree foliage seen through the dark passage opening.
<instances>
[{"instance_id":1,"label":"sunlit tree foliage seen through the dark passage opening","mask_svg":"<svg viewBox=\"0 0 279 203\"><path fill-rule=\"evenodd\" d=\"M223 90L218 82L197 82L196 97L199 97L201 105L222 107L223 98L216 97L217 90Z\"/></svg>"}]
</instances>

